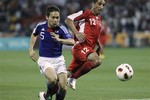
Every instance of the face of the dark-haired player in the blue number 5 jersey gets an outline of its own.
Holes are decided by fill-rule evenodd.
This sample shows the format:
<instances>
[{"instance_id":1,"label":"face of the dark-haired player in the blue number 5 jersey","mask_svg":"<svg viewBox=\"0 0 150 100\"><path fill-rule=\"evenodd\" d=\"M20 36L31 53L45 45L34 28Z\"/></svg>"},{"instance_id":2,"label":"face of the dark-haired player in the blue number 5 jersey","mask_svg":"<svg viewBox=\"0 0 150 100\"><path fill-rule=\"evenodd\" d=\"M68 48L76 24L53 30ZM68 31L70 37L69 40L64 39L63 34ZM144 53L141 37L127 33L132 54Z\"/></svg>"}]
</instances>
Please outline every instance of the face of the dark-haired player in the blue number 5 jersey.
<instances>
[{"instance_id":1,"label":"face of the dark-haired player in the blue number 5 jersey","mask_svg":"<svg viewBox=\"0 0 150 100\"><path fill-rule=\"evenodd\" d=\"M50 15L46 16L46 19L48 21L48 26L54 28L59 25L60 13L57 11L50 12Z\"/></svg>"}]
</instances>

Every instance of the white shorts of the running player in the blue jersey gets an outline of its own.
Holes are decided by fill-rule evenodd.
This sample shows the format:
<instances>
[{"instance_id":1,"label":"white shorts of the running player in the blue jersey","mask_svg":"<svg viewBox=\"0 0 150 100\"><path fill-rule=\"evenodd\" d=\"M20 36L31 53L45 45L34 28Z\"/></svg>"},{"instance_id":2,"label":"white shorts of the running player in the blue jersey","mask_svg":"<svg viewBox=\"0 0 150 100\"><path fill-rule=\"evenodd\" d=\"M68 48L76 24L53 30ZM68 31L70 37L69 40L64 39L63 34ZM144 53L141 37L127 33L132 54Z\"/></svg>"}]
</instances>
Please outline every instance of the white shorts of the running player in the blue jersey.
<instances>
[{"instance_id":1,"label":"white shorts of the running player in the blue jersey","mask_svg":"<svg viewBox=\"0 0 150 100\"><path fill-rule=\"evenodd\" d=\"M38 67L41 74L43 75L45 73L45 70L49 67L53 68L56 71L57 75L59 73L67 73L65 59L63 55L56 58L39 57Z\"/></svg>"}]
</instances>

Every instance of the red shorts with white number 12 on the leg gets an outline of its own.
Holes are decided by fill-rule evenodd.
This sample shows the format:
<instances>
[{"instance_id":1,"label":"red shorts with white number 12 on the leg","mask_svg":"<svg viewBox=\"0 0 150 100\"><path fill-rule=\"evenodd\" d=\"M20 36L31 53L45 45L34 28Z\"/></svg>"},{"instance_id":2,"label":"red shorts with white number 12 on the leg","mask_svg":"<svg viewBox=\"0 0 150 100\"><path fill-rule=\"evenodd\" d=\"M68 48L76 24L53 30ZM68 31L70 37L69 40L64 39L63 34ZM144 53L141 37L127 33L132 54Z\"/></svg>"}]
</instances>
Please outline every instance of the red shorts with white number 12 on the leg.
<instances>
[{"instance_id":1,"label":"red shorts with white number 12 on the leg","mask_svg":"<svg viewBox=\"0 0 150 100\"><path fill-rule=\"evenodd\" d=\"M76 44L72 49L73 59L68 67L68 70L76 72L76 70L78 70L84 64L87 56L93 52L95 51L89 46Z\"/></svg>"}]
</instances>

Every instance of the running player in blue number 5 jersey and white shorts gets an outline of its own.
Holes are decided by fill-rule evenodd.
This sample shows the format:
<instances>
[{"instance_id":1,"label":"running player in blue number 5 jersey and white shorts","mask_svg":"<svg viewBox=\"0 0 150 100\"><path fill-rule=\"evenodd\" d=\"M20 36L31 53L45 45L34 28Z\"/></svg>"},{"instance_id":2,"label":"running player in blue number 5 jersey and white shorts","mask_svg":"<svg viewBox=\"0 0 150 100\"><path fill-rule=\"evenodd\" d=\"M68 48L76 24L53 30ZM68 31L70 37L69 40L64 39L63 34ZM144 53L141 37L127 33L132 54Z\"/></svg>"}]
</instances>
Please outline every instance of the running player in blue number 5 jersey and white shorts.
<instances>
[{"instance_id":1,"label":"running player in blue number 5 jersey and white shorts","mask_svg":"<svg viewBox=\"0 0 150 100\"><path fill-rule=\"evenodd\" d=\"M67 28L60 25L60 9L56 6L47 8L46 20L34 28L30 37L29 55L37 61L40 72L46 77L47 91L40 92L40 100L64 100L67 89L67 70L62 45L73 45L74 40ZM39 57L34 51L34 45L39 35Z\"/></svg>"}]
</instances>

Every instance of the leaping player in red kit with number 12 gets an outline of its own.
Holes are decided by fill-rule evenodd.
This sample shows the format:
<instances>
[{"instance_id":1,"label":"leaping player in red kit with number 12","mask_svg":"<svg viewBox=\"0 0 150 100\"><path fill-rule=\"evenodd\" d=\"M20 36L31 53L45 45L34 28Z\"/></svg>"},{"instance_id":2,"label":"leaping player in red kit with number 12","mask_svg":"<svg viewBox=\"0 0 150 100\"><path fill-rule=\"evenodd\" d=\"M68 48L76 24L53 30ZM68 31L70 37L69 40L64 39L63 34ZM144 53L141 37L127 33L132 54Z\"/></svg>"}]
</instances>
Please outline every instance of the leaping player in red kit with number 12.
<instances>
[{"instance_id":1,"label":"leaping player in red kit with number 12","mask_svg":"<svg viewBox=\"0 0 150 100\"><path fill-rule=\"evenodd\" d=\"M71 14L65 20L66 25L74 34L76 41L72 48L73 59L68 67L68 85L76 89L76 80L101 64L100 49L94 50L101 32L100 12L105 0L91 0L92 7L85 11ZM74 23L77 24L74 24Z\"/></svg>"}]
</instances>

